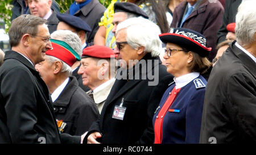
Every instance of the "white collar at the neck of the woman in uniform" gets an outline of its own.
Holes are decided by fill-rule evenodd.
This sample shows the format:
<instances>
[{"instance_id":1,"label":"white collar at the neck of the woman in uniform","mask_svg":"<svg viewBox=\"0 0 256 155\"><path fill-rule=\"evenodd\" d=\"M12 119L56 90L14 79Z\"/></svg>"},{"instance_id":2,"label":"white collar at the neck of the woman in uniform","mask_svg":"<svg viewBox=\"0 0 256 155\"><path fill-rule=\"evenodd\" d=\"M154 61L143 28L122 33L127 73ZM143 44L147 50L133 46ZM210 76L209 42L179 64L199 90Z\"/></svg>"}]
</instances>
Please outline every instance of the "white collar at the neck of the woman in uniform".
<instances>
[{"instance_id":1,"label":"white collar at the neck of the woman in uniform","mask_svg":"<svg viewBox=\"0 0 256 155\"><path fill-rule=\"evenodd\" d=\"M181 87L184 87L185 85L188 85L189 82L191 82L193 79L197 78L200 76L199 72L193 72L193 73L188 73L183 76L174 78L174 82L176 83L176 89L179 89Z\"/></svg>"}]
</instances>

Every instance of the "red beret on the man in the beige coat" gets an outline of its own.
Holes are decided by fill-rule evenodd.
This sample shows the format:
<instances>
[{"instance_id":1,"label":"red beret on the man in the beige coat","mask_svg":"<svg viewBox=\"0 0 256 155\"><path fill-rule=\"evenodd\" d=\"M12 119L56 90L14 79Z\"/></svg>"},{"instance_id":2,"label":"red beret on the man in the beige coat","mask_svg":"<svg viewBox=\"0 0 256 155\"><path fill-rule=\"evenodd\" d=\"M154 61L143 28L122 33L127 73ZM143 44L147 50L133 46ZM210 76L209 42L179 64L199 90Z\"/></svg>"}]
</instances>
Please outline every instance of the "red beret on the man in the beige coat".
<instances>
[{"instance_id":1,"label":"red beret on the man in the beige coat","mask_svg":"<svg viewBox=\"0 0 256 155\"><path fill-rule=\"evenodd\" d=\"M111 58L111 57L117 57L117 55L115 55L114 51L109 47L105 47L101 45L92 45L82 50L81 58L86 58L86 57Z\"/></svg>"}]
</instances>

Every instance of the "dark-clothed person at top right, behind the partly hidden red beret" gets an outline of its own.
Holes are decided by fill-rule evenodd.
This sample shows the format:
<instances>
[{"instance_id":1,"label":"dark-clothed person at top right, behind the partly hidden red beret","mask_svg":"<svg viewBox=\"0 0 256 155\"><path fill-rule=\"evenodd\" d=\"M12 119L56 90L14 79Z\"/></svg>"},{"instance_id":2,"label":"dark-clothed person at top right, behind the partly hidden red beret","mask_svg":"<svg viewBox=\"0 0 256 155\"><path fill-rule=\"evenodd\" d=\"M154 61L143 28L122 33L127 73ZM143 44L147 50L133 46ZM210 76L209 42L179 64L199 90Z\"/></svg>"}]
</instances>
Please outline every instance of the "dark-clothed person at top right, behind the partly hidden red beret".
<instances>
[{"instance_id":1,"label":"dark-clothed person at top right, behind the partly hidden red beret","mask_svg":"<svg viewBox=\"0 0 256 155\"><path fill-rule=\"evenodd\" d=\"M236 22L237 8L241 2L242 0L226 0L224 14L222 17L222 24L217 32L217 44L226 40L226 35L228 33L226 26L230 23Z\"/></svg>"}]
</instances>

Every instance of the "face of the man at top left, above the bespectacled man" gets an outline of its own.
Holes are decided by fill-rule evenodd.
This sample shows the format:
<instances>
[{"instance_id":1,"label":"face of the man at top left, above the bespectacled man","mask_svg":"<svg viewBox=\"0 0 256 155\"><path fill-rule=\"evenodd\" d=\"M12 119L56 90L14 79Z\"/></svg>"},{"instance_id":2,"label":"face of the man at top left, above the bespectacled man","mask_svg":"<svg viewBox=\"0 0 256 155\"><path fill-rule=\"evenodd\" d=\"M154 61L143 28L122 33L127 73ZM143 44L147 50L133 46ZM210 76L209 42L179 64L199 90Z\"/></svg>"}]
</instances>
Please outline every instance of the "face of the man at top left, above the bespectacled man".
<instances>
[{"instance_id":1,"label":"face of the man at top left, above the bespectacled man","mask_svg":"<svg viewBox=\"0 0 256 155\"><path fill-rule=\"evenodd\" d=\"M51 0L28 0L31 15L43 18L51 9Z\"/></svg>"}]
</instances>

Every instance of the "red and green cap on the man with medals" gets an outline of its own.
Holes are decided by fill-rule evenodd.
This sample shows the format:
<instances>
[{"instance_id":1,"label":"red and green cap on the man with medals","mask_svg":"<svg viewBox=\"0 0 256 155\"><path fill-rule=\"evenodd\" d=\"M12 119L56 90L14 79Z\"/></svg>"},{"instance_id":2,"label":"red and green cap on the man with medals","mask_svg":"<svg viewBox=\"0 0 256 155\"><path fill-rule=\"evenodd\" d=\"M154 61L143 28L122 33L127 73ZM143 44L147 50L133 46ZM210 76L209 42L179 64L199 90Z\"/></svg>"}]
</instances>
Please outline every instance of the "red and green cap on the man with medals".
<instances>
[{"instance_id":1,"label":"red and green cap on the man with medals","mask_svg":"<svg viewBox=\"0 0 256 155\"><path fill-rule=\"evenodd\" d=\"M59 58L69 66L72 66L77 60L81 60L76 51L64 41L51 39L51 44L52 49L47 50L46 55Z\"/></svg>"}]
</instances>

